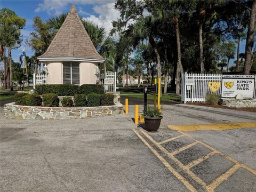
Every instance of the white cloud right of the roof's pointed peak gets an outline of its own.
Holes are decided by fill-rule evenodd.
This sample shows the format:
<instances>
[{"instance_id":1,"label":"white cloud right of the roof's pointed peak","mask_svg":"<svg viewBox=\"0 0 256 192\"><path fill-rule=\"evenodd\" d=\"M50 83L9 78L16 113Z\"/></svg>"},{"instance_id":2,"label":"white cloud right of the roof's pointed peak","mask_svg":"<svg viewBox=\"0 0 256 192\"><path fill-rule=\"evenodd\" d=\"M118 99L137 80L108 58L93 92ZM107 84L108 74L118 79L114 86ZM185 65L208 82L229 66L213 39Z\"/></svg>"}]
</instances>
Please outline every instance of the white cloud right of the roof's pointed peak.
<instances>
[{"instance_id":1,"label":"white cloud right of the roof's pointed peak","mask_svg":"<svg viewBox=\"0 0 256 192\"><path fill-rule=\"evenodd\" d=\"M85 19L94 22L100 27L104 27L107 33L109 33L112 28L111 22L119 18L119 11L115 9L114 5L114 3L95 5L93 10L95 13L99 14L99 16L90 15L90 17L86 17Z\"/></svg>"}]
</instances>

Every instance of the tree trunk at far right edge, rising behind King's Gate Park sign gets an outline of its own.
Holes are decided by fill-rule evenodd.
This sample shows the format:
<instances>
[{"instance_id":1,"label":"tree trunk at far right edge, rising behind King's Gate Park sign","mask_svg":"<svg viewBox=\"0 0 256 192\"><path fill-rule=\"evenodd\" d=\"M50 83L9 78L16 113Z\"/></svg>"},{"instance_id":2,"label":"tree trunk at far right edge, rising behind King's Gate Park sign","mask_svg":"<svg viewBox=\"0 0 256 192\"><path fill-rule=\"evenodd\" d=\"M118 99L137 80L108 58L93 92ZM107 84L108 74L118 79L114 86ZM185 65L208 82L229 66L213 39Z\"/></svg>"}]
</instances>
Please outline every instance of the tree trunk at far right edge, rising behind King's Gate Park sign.
<instances>
[{"instance_id":1,"label":"tree trunk at far right edge, rising behind King's Gate Park sign","mask_svg":"<svg viewBox=\"0 0 256 192\"><path fill-rule=\"evenodd\" d=\"M250 23L247 30L246 45L245 45L245 60L244 60L244 74L250 74L251 60L252 60L252 47L254 43L254 30L255 30L255 20L256 20L256 1L253 1Z\"/></svg>"}]
</instances>

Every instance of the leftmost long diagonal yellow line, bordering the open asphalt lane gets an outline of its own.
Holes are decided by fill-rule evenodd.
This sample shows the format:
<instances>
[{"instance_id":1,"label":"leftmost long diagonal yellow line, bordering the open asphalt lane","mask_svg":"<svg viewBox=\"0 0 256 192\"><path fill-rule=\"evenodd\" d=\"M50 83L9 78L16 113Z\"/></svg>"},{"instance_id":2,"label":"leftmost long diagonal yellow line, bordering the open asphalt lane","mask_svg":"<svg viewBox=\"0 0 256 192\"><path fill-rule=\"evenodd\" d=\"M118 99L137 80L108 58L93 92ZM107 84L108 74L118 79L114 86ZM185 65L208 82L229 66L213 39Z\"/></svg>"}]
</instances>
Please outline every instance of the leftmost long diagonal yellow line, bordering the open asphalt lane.
<instances>
[{"instance_id":1,"label":"leftmost long diagonal yellow line, bordering the open asphalt lane","mask_svg":"<svg viewBox=\"0 0 256 192\"><path fill-rule=\"evenodd\" d=\"M185 178L183 178L174 168L161 156L157 153L157 151L149 145L149 143L141 137L141 135L133 130L135 134L140 138L140 140L155 154L155 156L169 169L172 174L174 174L177 179L179 179L190 191L197 191Z\"/></svg>"}]
</instances>

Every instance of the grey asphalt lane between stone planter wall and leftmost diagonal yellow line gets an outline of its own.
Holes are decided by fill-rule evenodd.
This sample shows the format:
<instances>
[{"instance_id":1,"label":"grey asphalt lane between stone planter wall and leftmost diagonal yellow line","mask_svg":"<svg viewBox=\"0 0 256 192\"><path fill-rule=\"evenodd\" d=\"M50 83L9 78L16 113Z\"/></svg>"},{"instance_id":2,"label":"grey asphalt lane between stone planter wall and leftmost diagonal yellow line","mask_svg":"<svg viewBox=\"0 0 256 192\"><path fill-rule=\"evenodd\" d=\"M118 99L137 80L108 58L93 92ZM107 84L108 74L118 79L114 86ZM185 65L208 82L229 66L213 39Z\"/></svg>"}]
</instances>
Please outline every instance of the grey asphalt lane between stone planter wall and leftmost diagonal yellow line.
<instances>
[{"instance_id":1,"label":"grey asphalt lane between stone planter wall and leftmost diagonal yellow line","mask_svg":"<svg viewBox=\"0 0 256 192\"><path fill-rule=\"evenodd\" d=\"M124 114L69 121L1 118L23 127L1 143L1 191L187 191Z\"/></svg>"}]
</instances>

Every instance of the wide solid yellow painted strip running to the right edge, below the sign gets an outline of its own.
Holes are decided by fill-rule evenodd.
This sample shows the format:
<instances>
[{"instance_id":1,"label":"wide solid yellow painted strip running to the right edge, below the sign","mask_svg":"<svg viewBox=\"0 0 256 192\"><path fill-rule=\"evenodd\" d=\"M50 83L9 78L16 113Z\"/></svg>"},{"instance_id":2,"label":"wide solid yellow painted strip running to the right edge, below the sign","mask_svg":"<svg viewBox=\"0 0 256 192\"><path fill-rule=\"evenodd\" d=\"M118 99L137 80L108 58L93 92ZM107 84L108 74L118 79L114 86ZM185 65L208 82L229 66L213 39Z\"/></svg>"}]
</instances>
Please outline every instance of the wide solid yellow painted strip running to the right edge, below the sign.
<instances>
[{"instance_id":1,"label":"wide solid yellow painted strip running to the right edge, below the sign","mask_svg":"<svg viewBox=\"0 0 256 192\"><path fill-rule=\"evenodd\" d=\"M208 130L231 130L243 128L256 128L256 122L241 123L218 123L199 125L168 125L169 129L177 131L208 131Z\"/></svg>"}]
</instances>

